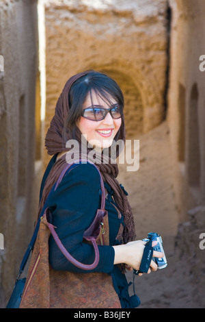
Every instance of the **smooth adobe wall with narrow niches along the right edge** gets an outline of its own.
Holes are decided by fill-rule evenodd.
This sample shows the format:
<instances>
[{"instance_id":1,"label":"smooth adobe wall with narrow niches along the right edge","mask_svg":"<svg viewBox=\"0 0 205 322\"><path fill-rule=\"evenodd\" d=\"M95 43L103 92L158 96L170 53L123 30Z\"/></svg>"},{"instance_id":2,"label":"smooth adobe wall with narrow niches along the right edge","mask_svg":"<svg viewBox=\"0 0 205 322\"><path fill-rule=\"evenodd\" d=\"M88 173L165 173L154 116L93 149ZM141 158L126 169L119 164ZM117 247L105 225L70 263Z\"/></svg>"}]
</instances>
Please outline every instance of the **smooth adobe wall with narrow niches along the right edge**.
<instances>
[{"instance_id":1,"label":"smooth adobe wall with narrow niches along the right edge","mask_svg":"<svg viewBox=\"0 0 205 322\"><path fill-rule=\"evenodd\" d=\"M205 199L204 1L169 1L172 8L167 122L181 221Z\"/></svg>"}]
</instances>

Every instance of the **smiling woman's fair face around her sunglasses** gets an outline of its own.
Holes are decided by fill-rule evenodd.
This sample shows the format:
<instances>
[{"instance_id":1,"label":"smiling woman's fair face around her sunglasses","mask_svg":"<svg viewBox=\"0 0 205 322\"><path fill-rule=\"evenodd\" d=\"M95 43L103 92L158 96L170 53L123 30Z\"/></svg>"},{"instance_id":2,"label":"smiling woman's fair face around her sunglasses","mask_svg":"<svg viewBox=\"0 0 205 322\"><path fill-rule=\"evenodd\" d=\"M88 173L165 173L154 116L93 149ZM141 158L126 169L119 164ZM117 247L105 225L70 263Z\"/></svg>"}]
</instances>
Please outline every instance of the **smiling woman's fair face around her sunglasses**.
<instances>
[{"instance_id":1,"label":"smiling woman's fair face around her sunglasses","mask_svg":"<svg viewBox=\"0 0 205 322\"><path fill-rule=\"evenodd\" d=\"M90 95L87 95L84 103L83 110L90 108L90 106L100 106L102 108L110 108L110 105L118 103L114 99L110 99L110 102L105 102L95 92L92 92L92 101ZM110 113L107 113L105 119L102 121L91 121L81 116L81 119L77 123L81 134L85 136L87 142L92 146L95 145L95 149L102 151L102 149L110 147L113 143L113 138L118 133L122 119L113 119Z\"/></svg>"}]
</instances>

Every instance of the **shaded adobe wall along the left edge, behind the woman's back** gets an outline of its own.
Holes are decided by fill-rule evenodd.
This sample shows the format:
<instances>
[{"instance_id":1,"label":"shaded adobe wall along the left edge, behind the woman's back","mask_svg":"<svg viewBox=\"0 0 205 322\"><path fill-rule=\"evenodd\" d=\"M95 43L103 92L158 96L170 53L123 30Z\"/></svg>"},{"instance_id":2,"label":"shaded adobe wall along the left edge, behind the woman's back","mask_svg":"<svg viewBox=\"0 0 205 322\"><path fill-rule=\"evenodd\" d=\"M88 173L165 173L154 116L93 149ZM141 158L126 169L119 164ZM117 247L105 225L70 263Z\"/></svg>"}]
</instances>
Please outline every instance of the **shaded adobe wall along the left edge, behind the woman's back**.
<instances>
[{"instance_id":1,"label":"shaded adobe wall along the left edge, behind the woman's back","mask_svg":"<svg viewBox=\"0 0 205 322\"><path fill-rule=\"evenodd\" d=\"M36 215L36 0L0 2L0 305L12 292Z\"/></svg>"}]
</instances>

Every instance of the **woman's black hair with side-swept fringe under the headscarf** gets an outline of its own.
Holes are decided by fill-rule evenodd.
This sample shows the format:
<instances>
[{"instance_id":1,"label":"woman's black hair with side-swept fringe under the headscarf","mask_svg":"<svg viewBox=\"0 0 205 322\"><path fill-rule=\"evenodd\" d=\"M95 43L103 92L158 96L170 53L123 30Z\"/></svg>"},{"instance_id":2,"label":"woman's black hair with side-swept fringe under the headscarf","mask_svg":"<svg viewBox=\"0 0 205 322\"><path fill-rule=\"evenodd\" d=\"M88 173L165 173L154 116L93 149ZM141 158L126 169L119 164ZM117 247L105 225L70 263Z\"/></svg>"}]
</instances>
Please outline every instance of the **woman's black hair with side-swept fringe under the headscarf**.
<instances>
[{"instance_id":1,"label":"woman's black hair with side-swept fringe under the headscarf","mask_svg":"<svg viewBox=\"0 0 205 322\"><path fill-rule=\"evenodd\" d=\"M79 129L76 123L81 118L83 103L87 95L90 95L92 101L92 91L96 93L96 96L108 103L111 103L111 99L114 99L123 110L124 97L115 80L104 73L97 71L87 72L86 75L77 79L70 88L68 117L64 123L64 141L67 140L66 134L69 134L70 138L77 138L76 134Z\"/></svg>"}]
</instances>

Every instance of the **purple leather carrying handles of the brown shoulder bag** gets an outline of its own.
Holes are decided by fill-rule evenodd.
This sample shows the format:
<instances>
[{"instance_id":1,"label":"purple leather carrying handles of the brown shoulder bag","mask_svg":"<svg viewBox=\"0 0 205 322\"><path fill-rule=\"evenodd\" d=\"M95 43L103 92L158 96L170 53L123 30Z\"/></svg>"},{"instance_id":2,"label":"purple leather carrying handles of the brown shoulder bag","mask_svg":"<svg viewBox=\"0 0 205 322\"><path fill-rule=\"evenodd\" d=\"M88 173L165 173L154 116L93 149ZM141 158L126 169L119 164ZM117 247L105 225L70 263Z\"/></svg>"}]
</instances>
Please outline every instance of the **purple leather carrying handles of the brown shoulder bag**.
<instances>
[{"instance_id":1,"label":"purple leather carrying handles of the brown shoulder bag","mask_svg":"<svg viewBox=\"0 0 205 322\"><path fill-rule=\"evenodd\" d=\"M84 160L81 160L81 161L84 161ZM86 160L86 162L89 162L89 161ZM94 163L92 163L92 162L89 162L89 163L93 164L96 167L96 165ZM70 168L71 165L72 164L68 164L64 168L64 170L61 172L61 175L59 176L59 179L57 180L54 190L57 189L57 186L59 186L61 179L64 177L64 175L66 174L66 172L68 171L68 169ZM96 167L96 169L98 170L97 167ZM44 212L44 215L42 216L42 220L44 219L44 221L45 221L47 227L49 228L49 230L55 240L55 243L57 243L57 247L59 247L61 253L63 253L64 256L72 264L74 264L76 267L79 267L80 269L84 269L85 271L95 269L96 266L98 265L100 255L99 255L98 245L96 243L96 238L98 238L98 235L100 234L100 229L101 229L100 224L102 225L103 218L107 214L107 211L105 210L104 182L102 180L102 176L101 176L99 170L98 170L98 173L100 175L100 187L101 187L101 192L102 192L101 207L100 207L100 209L97 210L94 221L92 222L90 227L88 227L87 230L85 231L85 233L83 234L83 238L85 238L85 240L87 240L87 241L90 241L92 243L92 245L94 246L95 258L94 258L94 262L92 264L83 264L83 263L79 262L78 260L76 260L75 258L73 258L72 255L70 255L70 253L67 251L67 249L64 247L64 245L61 243L61 240L57 236L57 233L55 232L55 227L52 225L52 223L49 222L49 219L51 218L51 212L50 212L49 208L46 209L46 211Z\"/></svg>"}]
</instances>

